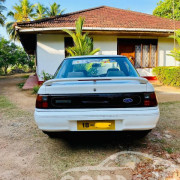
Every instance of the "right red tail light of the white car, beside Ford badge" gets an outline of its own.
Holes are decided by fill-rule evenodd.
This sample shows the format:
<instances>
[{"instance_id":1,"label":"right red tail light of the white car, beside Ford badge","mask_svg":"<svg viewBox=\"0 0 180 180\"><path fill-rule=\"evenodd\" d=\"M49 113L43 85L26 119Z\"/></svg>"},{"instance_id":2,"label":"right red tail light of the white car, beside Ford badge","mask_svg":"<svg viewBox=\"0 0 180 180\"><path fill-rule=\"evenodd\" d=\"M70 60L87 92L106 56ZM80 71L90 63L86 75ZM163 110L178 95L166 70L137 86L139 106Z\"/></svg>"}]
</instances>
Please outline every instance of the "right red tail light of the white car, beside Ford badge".
<instances>
[{"instance_id":1,"label":"right red tail light of the white car, beside Ford badge","mask_svg":"<svg viewBox=\"0 0 180 180\"><path fill-rule=\"evenodd\" d=\"M158 105L158 103L157 103L155 92L144 94L144 106L145 107L154 107L157 105Z\"/></svg>"}]
</instances>

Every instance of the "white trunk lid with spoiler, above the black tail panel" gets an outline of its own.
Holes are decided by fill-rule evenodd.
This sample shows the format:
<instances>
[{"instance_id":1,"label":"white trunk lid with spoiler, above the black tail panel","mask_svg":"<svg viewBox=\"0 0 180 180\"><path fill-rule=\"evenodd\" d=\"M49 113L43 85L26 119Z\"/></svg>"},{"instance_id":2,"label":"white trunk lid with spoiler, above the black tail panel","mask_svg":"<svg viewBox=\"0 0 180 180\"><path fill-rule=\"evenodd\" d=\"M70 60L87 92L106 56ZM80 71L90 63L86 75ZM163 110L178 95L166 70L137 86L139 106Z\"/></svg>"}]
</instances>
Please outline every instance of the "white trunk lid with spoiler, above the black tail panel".
<instances>
[{"instance_id":1,"label":"white trunk lid with spoiler, above the black tail panel","mask_svg":"<svg viewBox=\"0 0 180 180\"><path fill-rule=\"evenodd\" d=\"M146 92L143 78L59 79L45 82L46 94Z\"/></svg>"}]
</instances>

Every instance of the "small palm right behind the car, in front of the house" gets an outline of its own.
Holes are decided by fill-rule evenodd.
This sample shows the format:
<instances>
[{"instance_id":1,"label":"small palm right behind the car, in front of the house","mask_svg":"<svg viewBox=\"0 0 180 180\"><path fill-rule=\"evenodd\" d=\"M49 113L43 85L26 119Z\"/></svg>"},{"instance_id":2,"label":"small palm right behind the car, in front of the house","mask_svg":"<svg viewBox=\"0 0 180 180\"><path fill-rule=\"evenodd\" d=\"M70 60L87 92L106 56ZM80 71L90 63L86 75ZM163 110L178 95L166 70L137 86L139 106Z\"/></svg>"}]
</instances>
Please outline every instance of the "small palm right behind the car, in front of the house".
<instances>
[{"instance_id":1,"label":"small palm right behind the car, in front of the house","mask_svg":"<svg viewBox=\"0 0 180 180\"><path fill-rule=\"evenodd\" d=\"M71 56L94 55L95 53L99 52L99 48L93 50L93 42L92 39L88 36L88 33L83 34L82 32L84 19L81 17L78 18L75 24L75 32L72 32L68 29L63 30L72 37L74 42L74 46L66 48L66 51Z\"/></svg>"}]
</instances>

